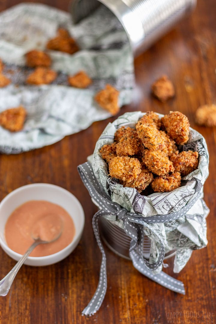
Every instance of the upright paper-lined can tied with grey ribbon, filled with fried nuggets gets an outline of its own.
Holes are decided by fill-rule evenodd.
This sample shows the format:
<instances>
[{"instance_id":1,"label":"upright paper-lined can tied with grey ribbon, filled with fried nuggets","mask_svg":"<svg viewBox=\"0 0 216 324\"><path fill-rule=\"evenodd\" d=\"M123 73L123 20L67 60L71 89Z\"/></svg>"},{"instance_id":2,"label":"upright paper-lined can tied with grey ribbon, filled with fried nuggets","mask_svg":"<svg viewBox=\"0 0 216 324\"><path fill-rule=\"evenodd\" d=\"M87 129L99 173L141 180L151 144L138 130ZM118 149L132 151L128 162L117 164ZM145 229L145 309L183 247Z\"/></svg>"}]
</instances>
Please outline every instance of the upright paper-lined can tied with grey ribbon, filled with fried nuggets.
<instances>
[{"instance_id":1,"label":"upright paper-lined can tied with grey ribbon, filled with fried nuggets","mask_svg":"<svg viewBox=\"0 0 216 324\"><path fill-rule=\"evenodd\" d=\"M106 292L106 256L99 221L112 250L129 255L133 266L148 278L185 293L181 282L162 271L163 261L175 250L173 271L180 272L192 251L208 243L209 208L203 200L208 165L205 139L190 128L181 112L127 112L107 125L94 154L78 167L99 208L93 229L102 263L94 301L99 294L104 298L101 286ZM98 309L89 305L85 315Z\"/></svg>"}]
</instances>

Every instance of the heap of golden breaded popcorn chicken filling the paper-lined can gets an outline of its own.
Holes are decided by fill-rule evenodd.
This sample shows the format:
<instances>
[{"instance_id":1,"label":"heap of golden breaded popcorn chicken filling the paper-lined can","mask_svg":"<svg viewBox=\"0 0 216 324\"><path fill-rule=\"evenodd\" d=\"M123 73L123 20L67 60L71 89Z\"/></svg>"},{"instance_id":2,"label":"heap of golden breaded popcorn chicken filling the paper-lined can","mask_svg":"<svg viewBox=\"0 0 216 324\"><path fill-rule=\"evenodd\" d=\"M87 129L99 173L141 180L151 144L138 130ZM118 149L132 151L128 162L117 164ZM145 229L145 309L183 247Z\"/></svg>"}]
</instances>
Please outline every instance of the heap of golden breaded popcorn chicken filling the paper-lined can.
<instances>
[{"instance_id":1,"label":"heap of golden breaded popcorn chicken filling the paper-lined can","mask_svg":"<svg viewBox=\"0 0 216 324\"><path fill-rule=\"evenodd\" d=\"M188 142L189 121L179 111L161 119L148 111L135 129L120 127L111 145L100 149L109 175L124 187L140 193L149 185L154 192L169 192L181 185L181 177L197 169L199 154L179 152L177 145Z\"/></svg>"}]
</instances>

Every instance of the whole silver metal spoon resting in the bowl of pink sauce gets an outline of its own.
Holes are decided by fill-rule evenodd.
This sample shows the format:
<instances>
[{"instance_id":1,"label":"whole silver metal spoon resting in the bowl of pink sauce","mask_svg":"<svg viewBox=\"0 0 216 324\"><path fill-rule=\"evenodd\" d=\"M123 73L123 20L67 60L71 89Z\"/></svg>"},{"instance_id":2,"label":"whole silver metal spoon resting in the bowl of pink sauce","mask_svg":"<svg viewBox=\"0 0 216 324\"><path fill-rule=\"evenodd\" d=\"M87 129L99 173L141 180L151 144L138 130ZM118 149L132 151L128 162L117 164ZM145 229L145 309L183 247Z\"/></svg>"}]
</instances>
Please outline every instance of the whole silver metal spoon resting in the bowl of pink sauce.
<instances>
[{"instance_id":1,"label":"whole silver metal spoon resting in the bowl of pink sauce","mask_svg":"<svg viewBox=\"0 0 216 324\"><path fill-rule=\"evenodd\" d=\"M58 230L53 231L53 226L51 223L51 218L53 217L53 214L47 214L45 217L42 217L41 220L39 220L35 226L33 231L31 232L31 237L34 239L34 243L28 248L26 253L21 257L21 259L15 264L13 269L11 269L10 272L0 281L0 296L6 296L10 290L10 287L17 275L17 272L25 262L25 260L28 258L29 254L33 251L36 246L39 244L47 244L56 241L61 235L63 231L63 224L62 219L59 217L59 224ZM56 217L56 215L55 215ZM43 238L43 232L40 233L41 224L43 223L43 226L48 226L47 228L50 230L49 239L42 239ZM49 228L50 227L50 228ZM42 227L44 228L44 227ZM40 237L42 234L42 238Z\"/></svg>"}]
</instances>

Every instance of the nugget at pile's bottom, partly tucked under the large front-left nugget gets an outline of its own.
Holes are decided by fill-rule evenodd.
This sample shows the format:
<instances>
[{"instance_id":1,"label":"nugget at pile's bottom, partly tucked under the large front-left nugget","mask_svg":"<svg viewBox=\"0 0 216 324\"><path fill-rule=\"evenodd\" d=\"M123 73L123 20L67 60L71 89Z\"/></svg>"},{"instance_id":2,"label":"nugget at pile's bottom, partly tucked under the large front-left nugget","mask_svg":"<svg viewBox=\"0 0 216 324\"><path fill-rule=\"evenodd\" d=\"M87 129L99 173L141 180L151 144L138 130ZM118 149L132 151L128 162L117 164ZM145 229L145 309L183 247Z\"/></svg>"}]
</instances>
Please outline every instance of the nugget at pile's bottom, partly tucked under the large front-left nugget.
<instances>
[{"instance_id":1,"label":"nugget at pile's bottom, partly tucked under the large front-left nugget","mask_svg":"<svg viewBox=\"0 0 216 324\"><path fill-rule=\"evenodd\" d=\"M133 179L131 182L121 181L123 187L135 188L137 191L141 192L148 187L148 185L153 180L153 174L147 169L142 168L140 174L138 174L136 179Z\"/></svg>"}]
</instances>

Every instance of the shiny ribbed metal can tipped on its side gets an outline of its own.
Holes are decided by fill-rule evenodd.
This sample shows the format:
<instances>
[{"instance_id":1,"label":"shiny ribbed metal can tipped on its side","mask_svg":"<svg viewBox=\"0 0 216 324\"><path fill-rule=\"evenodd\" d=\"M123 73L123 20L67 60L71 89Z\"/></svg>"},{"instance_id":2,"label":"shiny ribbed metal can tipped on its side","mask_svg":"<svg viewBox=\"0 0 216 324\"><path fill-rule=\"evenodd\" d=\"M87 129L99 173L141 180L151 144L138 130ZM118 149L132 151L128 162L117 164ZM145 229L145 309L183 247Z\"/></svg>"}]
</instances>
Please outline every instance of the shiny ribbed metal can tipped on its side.
<instances>
[{"instance_id":1,"label":"shiny ribbed metal can tipped on its side","mask_svg":"<svg viewBox=\"0 0 216 324\"><path fill-rule=\"evenodd\" d=\"M74 0L70 12L74 23L105 5L124 27L134 56L149 48L196 6L196 0Z\"/></svg>"}]
</instances>

